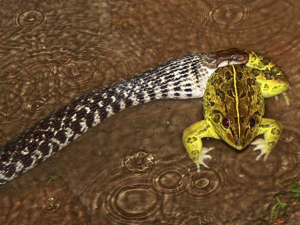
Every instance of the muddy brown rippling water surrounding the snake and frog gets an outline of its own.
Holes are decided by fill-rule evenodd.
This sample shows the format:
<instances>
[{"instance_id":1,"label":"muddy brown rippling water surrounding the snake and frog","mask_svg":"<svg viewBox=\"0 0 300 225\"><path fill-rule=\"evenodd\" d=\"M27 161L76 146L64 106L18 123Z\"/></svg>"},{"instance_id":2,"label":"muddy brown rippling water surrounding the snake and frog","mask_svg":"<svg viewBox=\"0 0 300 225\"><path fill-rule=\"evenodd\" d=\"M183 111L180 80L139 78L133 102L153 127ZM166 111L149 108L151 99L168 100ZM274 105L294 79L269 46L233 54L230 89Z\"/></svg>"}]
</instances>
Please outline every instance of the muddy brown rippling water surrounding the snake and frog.
<instances>
[{"instance_id":1,"label":"muddy brown rippling water surrounding the snake and frog","mask_svg":"<svg viewBox=\"0 0 300 225\"><path fill-rule=\"evenodd\" d=\"M191 53L239 47L269 56L290 81L291 106L266 100L284 131L268 160L221 140L209 169L182 131L202 99L120 112L0 186L0 225L300 225L300 1L0 0L0 144L76 96ZM57 179L47 182L50 177Z\"/></svg>"}]
</instances>

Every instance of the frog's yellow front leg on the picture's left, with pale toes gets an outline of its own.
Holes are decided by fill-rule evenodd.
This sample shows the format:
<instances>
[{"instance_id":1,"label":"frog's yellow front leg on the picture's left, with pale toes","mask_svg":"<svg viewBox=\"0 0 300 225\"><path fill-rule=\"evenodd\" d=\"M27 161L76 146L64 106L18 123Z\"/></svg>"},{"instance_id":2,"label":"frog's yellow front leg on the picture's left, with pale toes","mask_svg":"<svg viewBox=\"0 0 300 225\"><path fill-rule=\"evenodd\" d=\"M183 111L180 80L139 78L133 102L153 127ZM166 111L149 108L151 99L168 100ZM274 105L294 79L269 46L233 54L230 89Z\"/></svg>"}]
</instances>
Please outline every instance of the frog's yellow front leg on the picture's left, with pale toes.
<instances>
[{"instance_id":1,"label":"frog's yellow front leg on the picture's left, with pale toes","mask_svg":"<svg viewBox=\"0 0 300 225\"><path fill-rule=\"evenodd\" d=\"M202 137L213 137L220 139L220 137L214 132L212 126L205 120L195 122L183 131L182 142L189 155L197 166L197 172L200 172L200 164L208 168L208 165L204 163L204 159L211 158L206 153L213 149L202 147Z\"/></svg>"}]
</instances>

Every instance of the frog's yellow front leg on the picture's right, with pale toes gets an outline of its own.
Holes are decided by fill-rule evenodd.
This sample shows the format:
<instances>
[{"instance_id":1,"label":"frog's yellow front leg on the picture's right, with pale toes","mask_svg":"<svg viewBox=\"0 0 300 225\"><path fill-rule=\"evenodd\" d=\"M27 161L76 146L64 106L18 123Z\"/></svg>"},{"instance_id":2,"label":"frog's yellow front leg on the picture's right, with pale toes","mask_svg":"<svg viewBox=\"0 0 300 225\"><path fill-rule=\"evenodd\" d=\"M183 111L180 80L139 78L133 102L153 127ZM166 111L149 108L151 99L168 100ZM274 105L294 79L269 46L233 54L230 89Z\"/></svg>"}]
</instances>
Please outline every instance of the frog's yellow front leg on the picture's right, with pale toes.
<instances>
[{"instance_id":1,"label":"frog's yellow front leg on the picture's right, with pale toes","mask_svg":"<svg viewBox=\"0 0 300 225\"><path fill-rule=\"evenodd\" d=\"M260 154L256 157L256 160L262 155L264 156L264 161L267 160L270 151L274 148L278 142L280 135L282 133L282 123L268 118L263 118L259 125L257 135L264 134L264 138L258 138L251 143L251 145L256 145L255 150L261 150Z\"/></svg>"}]
</instances>

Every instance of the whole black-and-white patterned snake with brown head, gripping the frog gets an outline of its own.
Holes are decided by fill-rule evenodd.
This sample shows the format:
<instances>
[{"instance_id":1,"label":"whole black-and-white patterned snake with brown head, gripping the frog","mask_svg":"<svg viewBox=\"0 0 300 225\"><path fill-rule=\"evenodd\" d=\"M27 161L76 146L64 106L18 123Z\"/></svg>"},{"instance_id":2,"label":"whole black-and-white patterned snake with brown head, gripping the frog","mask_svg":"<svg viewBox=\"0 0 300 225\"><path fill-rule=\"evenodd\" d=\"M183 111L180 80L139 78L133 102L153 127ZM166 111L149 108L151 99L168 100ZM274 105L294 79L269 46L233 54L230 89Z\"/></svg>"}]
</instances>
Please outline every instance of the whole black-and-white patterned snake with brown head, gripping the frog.
<instances>
[{"instance_id":1,"label":"whole black-and-white patterned snake with brown head, gripping the frog","mask_svg":"<svg viewBox=\"0 0 300 225\"><path fill-rule=\"evenodd\" d=\"M0 147L0 184L45 161L125 108L156 99L203 97L207 79L218 67L248 59L237 48L184 56L76 98Z\"/></svg>"}]
</instances>

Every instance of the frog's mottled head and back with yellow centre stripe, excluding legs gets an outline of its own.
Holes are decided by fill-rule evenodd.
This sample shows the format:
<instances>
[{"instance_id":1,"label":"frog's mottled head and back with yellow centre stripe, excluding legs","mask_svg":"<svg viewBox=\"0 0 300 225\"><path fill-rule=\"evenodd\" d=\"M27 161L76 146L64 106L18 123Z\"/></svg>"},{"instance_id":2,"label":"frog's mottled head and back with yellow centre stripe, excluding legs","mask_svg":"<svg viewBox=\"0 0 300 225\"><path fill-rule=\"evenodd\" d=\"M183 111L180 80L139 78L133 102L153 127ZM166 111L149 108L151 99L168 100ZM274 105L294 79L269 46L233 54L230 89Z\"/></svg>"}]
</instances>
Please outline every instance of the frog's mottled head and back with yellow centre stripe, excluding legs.
<instances>
[{"instance_id":1,"label":"frog's mottled head and back with yellow centre stripe, excluding legs","mask_svg":"<svg viewBox=\"0 0 300 225\"><path fill-rule=\"evenodd\" d=\"M241 150L254 139L264 114L261 90L242 65L219 68L204 94L205 119L226 143Z\"/></svg>"}]
</instances>

